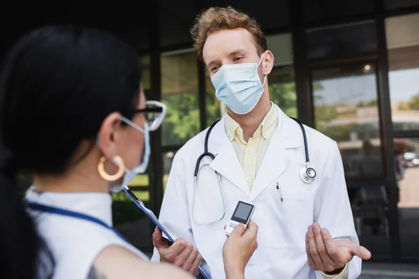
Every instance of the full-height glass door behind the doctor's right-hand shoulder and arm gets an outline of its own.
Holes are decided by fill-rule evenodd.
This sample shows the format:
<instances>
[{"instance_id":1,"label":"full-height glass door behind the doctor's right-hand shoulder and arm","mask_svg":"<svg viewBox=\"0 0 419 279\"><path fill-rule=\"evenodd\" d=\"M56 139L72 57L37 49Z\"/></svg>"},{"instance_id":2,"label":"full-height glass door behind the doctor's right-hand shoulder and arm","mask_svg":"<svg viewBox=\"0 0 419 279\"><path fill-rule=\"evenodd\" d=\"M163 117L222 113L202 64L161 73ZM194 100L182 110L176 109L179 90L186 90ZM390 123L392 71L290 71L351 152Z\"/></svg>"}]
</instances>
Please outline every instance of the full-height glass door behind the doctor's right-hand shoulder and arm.
<instances>
[{"instance_id":1,"label":"full-height glass door behind the doctor's right-hand shoulder and arm","mask_svg":"<svg viewBox=\"0 0 419 279\"><path fill-rule=\"evenodd\" d=\"M390 256L376 64L332 63L311 68L316 130L339 146L355 227L374 256Z\"/></svg>"}]
</instances>

